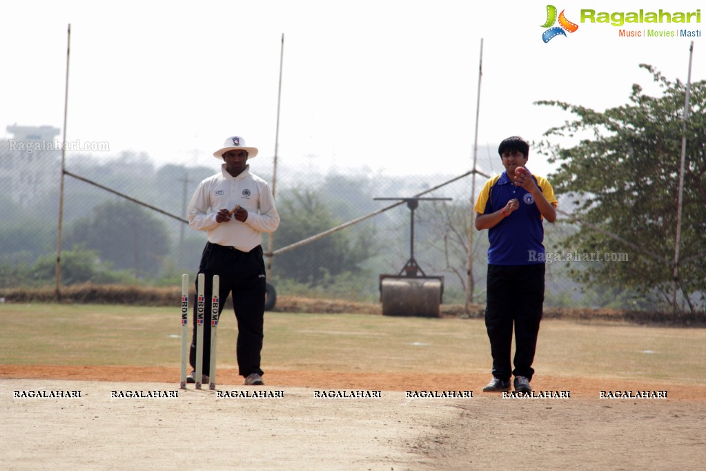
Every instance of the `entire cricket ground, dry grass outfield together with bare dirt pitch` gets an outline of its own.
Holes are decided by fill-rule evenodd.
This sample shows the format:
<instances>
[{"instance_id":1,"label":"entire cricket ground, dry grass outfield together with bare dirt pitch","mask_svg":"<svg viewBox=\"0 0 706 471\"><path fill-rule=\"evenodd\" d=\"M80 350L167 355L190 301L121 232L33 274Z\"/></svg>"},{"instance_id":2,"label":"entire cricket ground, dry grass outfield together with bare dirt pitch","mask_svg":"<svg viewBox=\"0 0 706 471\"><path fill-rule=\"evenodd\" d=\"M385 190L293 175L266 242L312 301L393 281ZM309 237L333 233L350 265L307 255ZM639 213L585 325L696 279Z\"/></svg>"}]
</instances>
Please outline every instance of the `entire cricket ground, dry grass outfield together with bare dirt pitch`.
<instances>
[{"instance_id":1,"label":"entire cricket ground, dry grass outfield together with bare dirt pitch","mask_svg":"<svg viewBox=\"0 0 706 471\"><path fill-rule=\"evenodd\" d=\"M0 304L6 467L700 470L706 459L703 328L547 319L532 385L570 398L513 400L481 393L491 359L479 319L267 313L261 388L281 389L281 400L242 402L193 386L174 400L113 399L112 390L178 387L179 314ZM242 386L234 369L235 325L232 313L222 316L217 392L258 388ZM317 389L382 395L321 400ZM409 389L474 394L409 399ZM669 398L599 398L606 389L669 390ZM17 390L83 395L15 399ZM208 451L196 460L194 436Z\"/></svg>"}]
</instances>

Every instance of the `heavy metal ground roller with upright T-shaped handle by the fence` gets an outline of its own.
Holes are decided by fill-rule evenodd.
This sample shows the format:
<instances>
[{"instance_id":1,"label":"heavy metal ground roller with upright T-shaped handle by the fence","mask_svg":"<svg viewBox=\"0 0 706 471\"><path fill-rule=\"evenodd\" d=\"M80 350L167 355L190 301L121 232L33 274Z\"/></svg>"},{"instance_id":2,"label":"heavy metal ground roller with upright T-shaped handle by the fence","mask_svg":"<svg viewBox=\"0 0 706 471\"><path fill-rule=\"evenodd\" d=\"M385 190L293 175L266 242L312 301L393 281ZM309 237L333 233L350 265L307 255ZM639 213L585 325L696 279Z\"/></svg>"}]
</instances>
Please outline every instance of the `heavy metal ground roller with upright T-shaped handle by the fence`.
<instances>
[{"instance_id":1,"label":"heavy metal ground roller with upright T-shaped handle by the fence","mask_svg":"<svg viewBox=\"0 0 706 471\"><path fill-rule=\"evenodd\" d=\"M380 275L380 301L383 316L439 317L443 297L443 276L426 275L414 259L414 210L420 200L448 201L451 198L373 198L407 203L409 220L409 260L397 275Z\"/></svg>"}]
</instances>

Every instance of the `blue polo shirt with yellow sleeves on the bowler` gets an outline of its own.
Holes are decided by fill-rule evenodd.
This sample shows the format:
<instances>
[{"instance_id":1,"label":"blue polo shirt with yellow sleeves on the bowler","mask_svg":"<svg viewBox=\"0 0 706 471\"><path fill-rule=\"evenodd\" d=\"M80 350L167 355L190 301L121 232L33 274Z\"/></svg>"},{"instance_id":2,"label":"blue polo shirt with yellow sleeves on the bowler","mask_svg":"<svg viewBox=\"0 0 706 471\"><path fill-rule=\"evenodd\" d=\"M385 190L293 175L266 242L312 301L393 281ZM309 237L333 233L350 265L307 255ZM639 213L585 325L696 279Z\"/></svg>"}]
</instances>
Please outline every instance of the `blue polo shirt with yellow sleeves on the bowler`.
<instances>
[{"instance_id":1,"label":"blue polo shirt with yellow sleeves on the bowler","mask_svg":"<svg viewBox=\"0 0 706 471\"><path fill-rule=\"evenodd\" d=\"M546 201L556 208L554 189L544 177L532 175L542 190ZM513 198L519 208L498 222L488 231L490 248L488 263L491 265L532 265L544 263L544 218L534 203L532 193L513 185L507 172L486 181L474 207L476 213L489 214L505 208Z\"/></svg>"}]
</instances>

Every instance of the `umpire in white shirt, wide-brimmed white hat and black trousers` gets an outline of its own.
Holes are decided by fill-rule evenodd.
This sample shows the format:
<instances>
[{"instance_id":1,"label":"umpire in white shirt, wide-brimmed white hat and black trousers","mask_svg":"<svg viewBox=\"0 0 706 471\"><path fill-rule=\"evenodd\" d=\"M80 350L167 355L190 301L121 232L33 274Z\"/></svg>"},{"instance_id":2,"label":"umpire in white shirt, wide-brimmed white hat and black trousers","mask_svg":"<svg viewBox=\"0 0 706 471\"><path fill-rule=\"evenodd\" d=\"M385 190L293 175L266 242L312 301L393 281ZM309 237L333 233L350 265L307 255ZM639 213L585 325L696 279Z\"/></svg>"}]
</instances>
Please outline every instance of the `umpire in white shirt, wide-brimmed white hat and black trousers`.
<instances>
[{"instance_id":1,"label":"umpire in white shirt, wide-brimmed white hat and black trousers","mask_svg":"<svg viewBox=\"0 0 706 471\"><path fill-rule=\"evenodd\" d=\"M250 172L247 163L258 155L239 136L226 139L213 153L223 160L221 171L201 181L189 204L189 225L208 234L198 273L205 275L204 295L212 295L213 275L220 277L220 309L232 292L238 321L237 360L247 385L263 384L260 352L265 314L265 262L262 233L280 225L269 184ZM198 292L198 279L197 279ZM196 304L196 303L195 303ZM220 311L219 311L220 316ZM189 362L196 369L196 305ZM210 309L204 310L203 345L210 345ZM208 383L210 349L203 350L202 383ZM196 372L187 378L195 382Z\"/></svg>"}]
</instances>

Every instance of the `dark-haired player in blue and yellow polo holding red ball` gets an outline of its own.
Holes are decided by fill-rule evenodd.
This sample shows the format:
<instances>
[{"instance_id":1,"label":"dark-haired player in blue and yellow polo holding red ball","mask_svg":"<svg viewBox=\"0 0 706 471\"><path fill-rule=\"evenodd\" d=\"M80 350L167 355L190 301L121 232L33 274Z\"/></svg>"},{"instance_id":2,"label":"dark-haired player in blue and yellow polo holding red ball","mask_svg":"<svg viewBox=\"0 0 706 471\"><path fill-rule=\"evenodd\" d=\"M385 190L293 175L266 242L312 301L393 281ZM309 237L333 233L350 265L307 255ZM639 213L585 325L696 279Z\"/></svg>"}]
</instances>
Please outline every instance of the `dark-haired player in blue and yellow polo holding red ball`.
<instances>
[{"instance_id":1,"label":"dark-haired player in blue and yellow polo holding red ball","mask_svg":"<svg viewBox=\"0 0 706 471\"><path fill-rule=\"evenodd\" d=\"M515 392L530 393L544 304L542 223L556 220L557 201L549 181L525 167L530 145L524 139L505 139L498 153L505 172L486 181L474 208L476 229L489 229L490 241L485 322L493 379L483 390L510 390L514 375ZM513 324L514 370L510 364Z\"/></svg>"}]
</instances>

